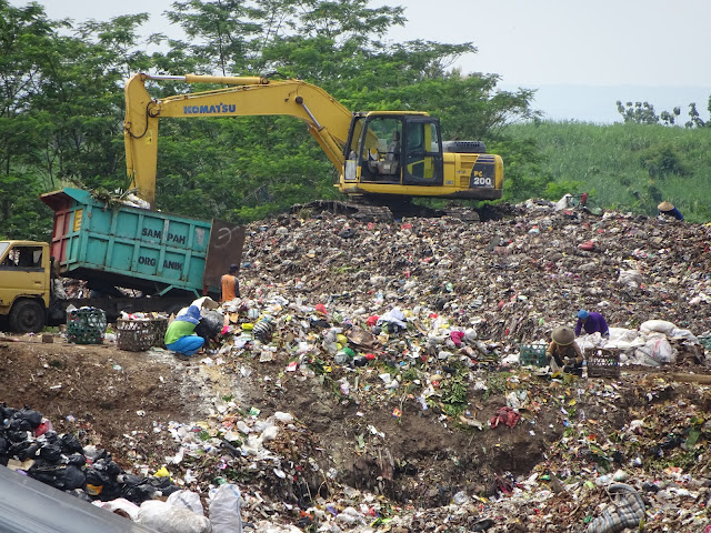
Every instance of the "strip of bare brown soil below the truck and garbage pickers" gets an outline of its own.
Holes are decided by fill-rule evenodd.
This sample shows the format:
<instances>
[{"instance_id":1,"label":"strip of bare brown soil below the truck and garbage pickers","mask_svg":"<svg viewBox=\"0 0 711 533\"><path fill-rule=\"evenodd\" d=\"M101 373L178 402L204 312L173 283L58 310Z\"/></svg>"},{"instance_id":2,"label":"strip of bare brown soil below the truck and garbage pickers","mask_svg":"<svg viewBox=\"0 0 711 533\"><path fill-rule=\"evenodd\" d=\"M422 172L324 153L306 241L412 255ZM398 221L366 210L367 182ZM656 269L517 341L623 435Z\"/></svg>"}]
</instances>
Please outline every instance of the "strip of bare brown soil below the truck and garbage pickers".
<instances>
[{"instance_id":1,"label":"strip of bare brown soil below the truck and garbage pickers","mask_svg":"<svg viewBox=\"0 0 711 533\"><path fill-rule=\"evenodd\" d=\"M174 443L153 438L156 425L201 420L212 399L237 396L240 405L266 416L294 413L322 452L316 459L326 469L346 472L341 481L347 484L428 505L447 504L462 489L495 491L487 484L498 474L528 472L559 436L553 410L535 413L534 438L524 423L463 431L461 425L447 428L434 410L423 411L413 400L402 401L402 416L395 418L392 405L359 404L333 393L318 376L284 376L279 384L263 380L280 364L256 363L244 379L229 364L218 369L183 362L164 351L127 352L110 344L70 344L60 336L43 343L39 335L9 335L0 340L0 365L8 376L0 398L8 405L40 411L58 433L76 433L84 444L106 447L130 471L137 456L160 461L174 453ZM480 398L481 422L487 424L501 405L501 395ZM363 450L357 446L359 435L368 442Z\"/></svg>"}]
</instances>

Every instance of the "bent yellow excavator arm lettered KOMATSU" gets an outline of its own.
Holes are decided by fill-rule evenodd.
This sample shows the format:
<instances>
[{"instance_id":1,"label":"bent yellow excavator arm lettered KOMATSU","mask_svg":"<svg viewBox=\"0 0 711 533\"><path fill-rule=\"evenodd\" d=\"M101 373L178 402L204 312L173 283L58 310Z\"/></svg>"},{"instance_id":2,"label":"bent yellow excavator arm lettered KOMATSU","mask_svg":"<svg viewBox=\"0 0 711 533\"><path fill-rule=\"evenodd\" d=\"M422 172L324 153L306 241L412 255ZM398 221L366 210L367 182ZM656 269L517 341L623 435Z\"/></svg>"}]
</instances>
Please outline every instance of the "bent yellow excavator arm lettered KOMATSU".
<instances>
[{"instance_id":1,"label":"bent yellow excavator arm lettered KOMATSU","mask_svg":"<svg viewBox=\"0 0 711 533\"><path fill-rule=\"evenodd\" d=\"M231 86L204 92L152 99L147 80ZM324 90L300 80L270 81L258 77L134 74L126 84L123 139L132 187L151 207L156 201L158 122L160 118L291 115L306 122L336 169L344 163L343 147L353 114Z\"/></svg>"}]
</instances>

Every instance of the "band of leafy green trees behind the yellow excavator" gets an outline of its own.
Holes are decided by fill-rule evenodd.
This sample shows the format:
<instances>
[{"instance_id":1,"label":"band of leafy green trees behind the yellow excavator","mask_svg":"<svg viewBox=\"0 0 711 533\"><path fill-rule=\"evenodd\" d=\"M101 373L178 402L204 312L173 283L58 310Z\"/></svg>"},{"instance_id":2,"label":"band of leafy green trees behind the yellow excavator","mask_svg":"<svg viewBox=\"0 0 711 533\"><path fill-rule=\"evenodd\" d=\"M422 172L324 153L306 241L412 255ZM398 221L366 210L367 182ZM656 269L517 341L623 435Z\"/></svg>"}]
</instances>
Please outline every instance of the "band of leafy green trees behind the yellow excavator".
<instances>
[{"instance_id":1,"label":"band of leafy green trees behind the yellow excavator","mask_svg":"<svg viewBox=\"0 0 711 533\"><path fill-rule=\"evenodd\" d=\"M495 74L453 70L457 59L475 53L471 42L385 41L388 30L404 22L404 9L370 3L179 0L167 14L188 39L153 34L141 40L146 13L74 24L48 21L38 6L22 10L0 0L3 23L18 19L10 26L37 29L36 44L9 47L12 53L0 62L0 71L4 66L9 74L20 72L16 81L31 89L8 92L12 122L0 121L6 135L0 143L12 160L0 160L2 180L17 189L18 179L31 177L31 197L64 182L126 187L123 83L137 71L153 69L271 72L322 87L353 111L427 110L441 118L445 138L485 140L510 155L517 170L507 179L525 181L531 151L503 132L511 121L535 117L533 92L499 91ZM3 28L0 33L13 34ZM170 47L164 53L144 51L149 43L164 42ZM157 98L212 88L149 83ZM289 117L163 121L158 163L158 207L202 218L250 220L336 195L331 163L303 124ZM18 178L21 164L28 167Z\"/></svg>"}]
</instances>

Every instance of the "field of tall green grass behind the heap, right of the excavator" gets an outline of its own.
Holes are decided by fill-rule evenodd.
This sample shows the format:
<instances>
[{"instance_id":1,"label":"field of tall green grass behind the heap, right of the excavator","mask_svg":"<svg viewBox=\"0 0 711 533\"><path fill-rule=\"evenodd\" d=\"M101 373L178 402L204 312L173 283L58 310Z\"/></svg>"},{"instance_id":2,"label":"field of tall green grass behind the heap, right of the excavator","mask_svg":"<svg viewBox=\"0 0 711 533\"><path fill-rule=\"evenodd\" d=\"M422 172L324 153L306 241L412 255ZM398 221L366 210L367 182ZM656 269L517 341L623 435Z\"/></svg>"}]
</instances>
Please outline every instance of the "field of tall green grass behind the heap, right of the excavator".
<instances>
[{"instance_id":1,"label":"field of tall green grass behind the heap, right of the excavator","mask_svg":"<svg viewBox=\"0 0 711 533\"><path fill-rule=\"evenodd\" d=\"M668 200L690 222L711 220L711 128L530 122L509 132L538 143L555 182L549 197L589 192L601 208L649 215Z\"/></svg>"}]
</instances>

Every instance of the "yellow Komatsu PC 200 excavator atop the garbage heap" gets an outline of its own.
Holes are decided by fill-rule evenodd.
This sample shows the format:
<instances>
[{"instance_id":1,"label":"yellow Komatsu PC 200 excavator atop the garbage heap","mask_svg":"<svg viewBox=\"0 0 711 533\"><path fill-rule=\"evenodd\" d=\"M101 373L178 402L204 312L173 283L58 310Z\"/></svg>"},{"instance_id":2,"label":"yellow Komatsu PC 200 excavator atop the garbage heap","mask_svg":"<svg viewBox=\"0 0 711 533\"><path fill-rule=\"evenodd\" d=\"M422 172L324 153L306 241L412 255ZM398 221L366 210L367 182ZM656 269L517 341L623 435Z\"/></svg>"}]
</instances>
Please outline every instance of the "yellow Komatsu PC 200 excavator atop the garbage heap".
<instances>
[{"instance_id":1,"label":"yellow Komatsu PC 200 excavator atop the garbage heap","mask_svg":"<svg viewBox=\"0 0 711 533\"><path fill-rule=\"evenodd\" d=\"M148 80L227 88L156 100ZM323 89L301 80L261 77L137 73L126 84L126 161L132 187L156 200L158 122L166 117L291 115L302 120L351 199L378 204L415 197L501 198L503 162L480 141L442 141L439 119L420 111L351 112Z\"/></svg>"}]
</instances>

